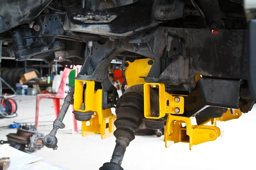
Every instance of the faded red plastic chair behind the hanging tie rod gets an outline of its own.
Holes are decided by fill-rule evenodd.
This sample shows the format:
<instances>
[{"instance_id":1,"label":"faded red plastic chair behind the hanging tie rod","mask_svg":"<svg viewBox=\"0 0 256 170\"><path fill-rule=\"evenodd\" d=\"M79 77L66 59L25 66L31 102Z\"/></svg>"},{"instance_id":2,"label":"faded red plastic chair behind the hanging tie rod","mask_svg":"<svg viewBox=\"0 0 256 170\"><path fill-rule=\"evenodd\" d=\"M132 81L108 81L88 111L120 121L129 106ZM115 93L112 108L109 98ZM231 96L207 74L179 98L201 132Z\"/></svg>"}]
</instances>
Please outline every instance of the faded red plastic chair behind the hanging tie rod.
<instances>
[{"instance_id":1,"label":"faded red plastic chair behind the hanging tie rod","mask_svg":"<svg viewBox=\"0 0 256 170\"><path fill-rule=\"evenodd\" d=\"M38 127L38 118L39 118L39 102L42 98L48 98L48 99L53 99L53 107L55 110L55 117L57 118L58 113L60 111L60 99L64 99L67 96L67 93L65 93L64 88L66 86L67 79L69 78L69 74L72 69L70 68L64 68L63 75L61 78L61 84L58 89L58 92L56 94L38 94L36 95L36 108L35 108L35 127ZM73 110L73 105L70 105L70 111ZM72 112L70 112L71 115L71 124L72 124L72 133L77 133L78 128L77 128L77 122L75 119L75 116L73 115Z\"/></svg>"}]
</instances>

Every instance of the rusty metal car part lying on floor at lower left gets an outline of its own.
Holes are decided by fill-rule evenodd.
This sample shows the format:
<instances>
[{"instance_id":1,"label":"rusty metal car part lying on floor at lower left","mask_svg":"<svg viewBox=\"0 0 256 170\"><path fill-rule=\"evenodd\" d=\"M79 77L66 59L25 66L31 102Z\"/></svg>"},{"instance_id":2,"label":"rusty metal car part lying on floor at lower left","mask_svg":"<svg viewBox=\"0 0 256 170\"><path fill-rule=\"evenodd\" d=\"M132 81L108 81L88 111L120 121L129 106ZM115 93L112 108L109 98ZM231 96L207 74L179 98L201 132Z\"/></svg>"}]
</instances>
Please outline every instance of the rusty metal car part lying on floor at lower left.
<instances>
[{"instance_id":1,"label":"rusty metal car part lying on floor at lower left","mask_svg":"<svg viewBox=\"0 0 256 170\"><path fill-rule=\"evenodd\" d=\"M44 147L44 134L39 133L35 125L23 125L17 128L17 133L9 133L6 136L7 141L1 140L0 144L10 144L23 152L32 153Z\"/></svg>"}]
</instances>

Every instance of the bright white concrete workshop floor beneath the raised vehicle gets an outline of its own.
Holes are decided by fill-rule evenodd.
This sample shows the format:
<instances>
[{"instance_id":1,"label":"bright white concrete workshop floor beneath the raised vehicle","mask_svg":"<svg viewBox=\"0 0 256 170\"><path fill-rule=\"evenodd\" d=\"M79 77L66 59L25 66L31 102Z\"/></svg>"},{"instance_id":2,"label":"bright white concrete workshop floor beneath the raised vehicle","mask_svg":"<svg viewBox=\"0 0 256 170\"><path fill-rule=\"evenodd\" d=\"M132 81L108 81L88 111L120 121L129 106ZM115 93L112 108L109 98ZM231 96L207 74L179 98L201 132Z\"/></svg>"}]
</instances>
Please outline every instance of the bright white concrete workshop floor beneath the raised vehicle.
<instances>
[{"instance_id":1,"label":"bright white concrete workshop floor beneath the raised vehicle","mask_svg":"<svg viewBox=\"0 0 256 170\"><path fill-rule=\"evenodd\" d=\"M17 96L18 116L13 119L0 119L0 126L16 122L35 121L35 96ZM220 126L224 136L214 142L206 142L189 150L189 144L177 143L165 148L163 136L136 136L125 153L122 167L125 170L255 170L255 132L256 108L243 114L239 119L223 122ZM42 99L39 121L54 121L51 99ZM110 161L115 137L102 140L100 135L81 136L71 134L70 115L67 113L66 128L58 130L58 150L44 147L32 153L43 157L44 161L69 170L98 170L103 163ZM39 123L46 125L51 123ZM52 126L38 127L45 135ZM8 133L15 129L0 129L0 139L6 140Z\"/></svg>"}]
</instances>

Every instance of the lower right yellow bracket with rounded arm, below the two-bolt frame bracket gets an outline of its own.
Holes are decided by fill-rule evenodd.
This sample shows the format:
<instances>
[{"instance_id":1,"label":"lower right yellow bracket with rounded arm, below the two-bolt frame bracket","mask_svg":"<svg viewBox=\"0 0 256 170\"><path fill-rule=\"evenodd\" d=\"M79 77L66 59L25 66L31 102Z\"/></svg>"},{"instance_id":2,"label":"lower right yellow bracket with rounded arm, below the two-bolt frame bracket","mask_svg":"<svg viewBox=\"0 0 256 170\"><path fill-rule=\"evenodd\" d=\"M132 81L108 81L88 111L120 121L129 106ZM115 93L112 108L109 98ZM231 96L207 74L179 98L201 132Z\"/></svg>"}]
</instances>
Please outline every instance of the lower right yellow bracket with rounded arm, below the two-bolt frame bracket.
<instances>
[{"instance_id":1,"label":"lower right yellow bracket with rounded arm, below the two-bolt frame bracket","mask_svg":"<svg viewBox=\"0 0 256 170\"><path fill-rule=\"evenodd\" d=\"M182 123L186 126L183 127ZM215 126L192 125L191 118L168 115L166 122L164 141L166 147L177 142L189 143L189 149L193 145L208 141L214 141L221 135L221 130Z\"/></svg>"}]
</instances>

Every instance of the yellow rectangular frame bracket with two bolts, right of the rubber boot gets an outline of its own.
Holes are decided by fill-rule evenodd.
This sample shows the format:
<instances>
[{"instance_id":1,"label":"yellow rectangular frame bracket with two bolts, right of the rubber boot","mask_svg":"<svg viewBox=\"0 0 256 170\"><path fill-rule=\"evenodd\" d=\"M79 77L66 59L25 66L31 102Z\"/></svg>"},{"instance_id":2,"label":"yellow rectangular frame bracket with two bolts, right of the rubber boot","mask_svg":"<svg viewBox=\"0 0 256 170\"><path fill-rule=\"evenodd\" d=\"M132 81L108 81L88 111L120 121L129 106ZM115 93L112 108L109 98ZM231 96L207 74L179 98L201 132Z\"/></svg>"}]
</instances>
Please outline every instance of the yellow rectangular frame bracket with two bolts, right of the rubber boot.
<instances>
[{"instance_id":1,"label":"yellow rectangular frame bracket with two bolts, right of the rubber boot","mask_svg":"<svg viewBox=\"0 0 256 170\"><path fill-rule=\"evenodd\" d=\"M184 98L183 96L177 96L168 94L165 91L165 85L163 83L145 83L144 84L144 116L147 119L160 119L166 115L166 113L183 114L184 113ZM159 90L159 116L151 116L150 113L150 88L158 88Z\"/></svg>"}]
</instances>

